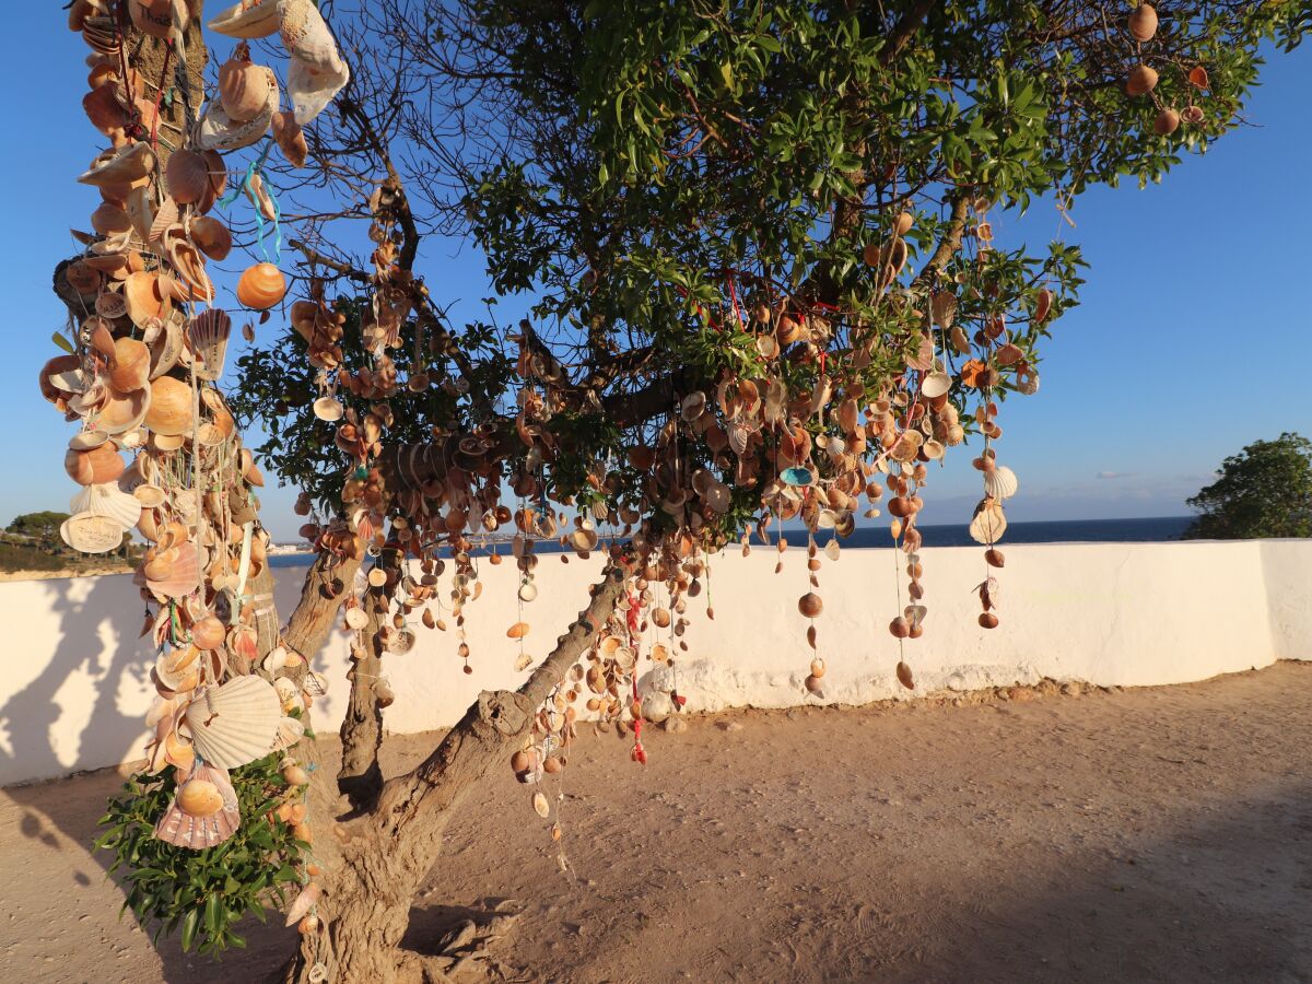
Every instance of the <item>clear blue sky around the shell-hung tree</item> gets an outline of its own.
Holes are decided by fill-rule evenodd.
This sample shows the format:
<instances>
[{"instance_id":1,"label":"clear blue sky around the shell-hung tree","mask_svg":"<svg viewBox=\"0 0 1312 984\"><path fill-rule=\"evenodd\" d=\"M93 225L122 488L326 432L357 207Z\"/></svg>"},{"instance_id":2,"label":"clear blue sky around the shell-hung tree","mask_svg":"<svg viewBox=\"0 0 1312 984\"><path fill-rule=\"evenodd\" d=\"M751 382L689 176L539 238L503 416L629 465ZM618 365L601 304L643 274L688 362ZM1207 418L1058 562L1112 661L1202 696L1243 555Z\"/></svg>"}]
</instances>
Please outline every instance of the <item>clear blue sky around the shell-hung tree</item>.
<instances>
[{"instance_id":1,"label":"clear blue sky around the shell-hung tree","mask_svg":"<svg viewBox=\"0 0 1312 984\"><path fill-rule=\"evenodd\" d=\"M63 323L51 270L72 248L68 228L85 228L97 202L73 181L100 138L80 106L87 49L63 17L52 5L18 4L0 37L7 88L21 102L0 164L9 189L0 411L12 462L0 523L67 509L75 491L62 467L71 425L35 384ZM1042 245L1060 231L1092 268L1084 303L1054 328L1039 392L1002 408L998 459L1021 476L1012 518L1181 516L1227 454L1282 430L1312 436L1303 235L1312 228L1312 46L1273 55L1262 83L1245 114L1252 126L1186 159L1160 186L1090 192L1073 213L1076 228L1061 228L1043 205L1010 235L1009 220L993 216L1009 240L1023 234ZM422 272L437 297L463 302L453 314L476 316L482 261L451 251L437 244ZM226 265L239 269L234 258ZM502 304L499 318L514 307ZM979 497L971 457L950 455L932 472L925 522L968 520ZM293 499L291 489L264 496L278 538L295 530Z\"/></svg>"}]
</instances>

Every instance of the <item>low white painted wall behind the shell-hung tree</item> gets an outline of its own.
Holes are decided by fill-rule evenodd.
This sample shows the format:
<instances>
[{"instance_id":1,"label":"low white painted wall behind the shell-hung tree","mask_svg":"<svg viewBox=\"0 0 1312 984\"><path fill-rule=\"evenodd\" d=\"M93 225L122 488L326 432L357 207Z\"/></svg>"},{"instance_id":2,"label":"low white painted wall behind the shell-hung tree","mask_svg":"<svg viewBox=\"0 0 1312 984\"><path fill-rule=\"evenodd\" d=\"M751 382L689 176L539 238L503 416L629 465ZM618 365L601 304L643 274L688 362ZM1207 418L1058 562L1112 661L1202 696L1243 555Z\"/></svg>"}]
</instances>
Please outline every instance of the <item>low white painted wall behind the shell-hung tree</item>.
<instances>
[{"instance_id":1,"label":"low white painted wall behind the shell-hung tree","mask_svg":"<svg viewBox=\"0 0 1312 984\"><path fill-rule=\"evenodd\" d=\"M1002 625L993 631L975 622L981 551L933 548L924 559L929 619L905 656L917 693L1043 676L1147 686L1312 659L1312 541L1009 546L1008 565L998 572ZM802 689L811 656L796 610L807 589L804 558L789 551L781 575L774 560L773 550L758 548L747 559L731 554L712 562L715 621L694 617L691 651L678 669L689 710L813 699ZM907 695L893 678L897 642L886 628L897 614L893 565L890 550L850 550L820 572L829 701ZM544 655L598 571L597 560L560 564L543 556L541 594L525 606L530 652ZM517 619L514 571L484 565L483 573L483 597L468 609L475 672L461 673L450 634L419 627L420 644L388 659L396 691L386 711L391 731L451 724L479 690L514 686L527 676L513 670L516 651L505 639ZM303 576L303 568L278 571L281 611L291 609ZM691 610L701 611L706 597ZM0 785L142 756L154 656L138 640L142 602L130 576L0 584L0 625L8 639ZM340 720L346 663L340 634L315 660L335 685L314 708L325 731Z\"/></svg>"}]
</instances>

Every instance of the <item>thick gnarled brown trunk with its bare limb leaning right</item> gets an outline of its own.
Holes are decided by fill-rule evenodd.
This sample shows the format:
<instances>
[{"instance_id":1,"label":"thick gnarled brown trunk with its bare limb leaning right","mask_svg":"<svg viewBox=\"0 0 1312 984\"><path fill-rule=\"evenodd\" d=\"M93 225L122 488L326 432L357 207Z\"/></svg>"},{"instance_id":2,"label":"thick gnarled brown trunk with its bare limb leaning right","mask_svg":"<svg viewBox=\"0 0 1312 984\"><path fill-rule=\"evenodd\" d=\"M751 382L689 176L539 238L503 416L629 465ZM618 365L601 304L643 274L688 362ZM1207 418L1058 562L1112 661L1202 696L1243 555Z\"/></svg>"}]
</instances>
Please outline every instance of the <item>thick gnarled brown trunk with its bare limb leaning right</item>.
<instances>
[{"instance_id":1,"label":"thick gnarled brown trunk with its bare limb leaning right","mask_svg":"<svg viewBox=\"0 0 1312 984\"><path fill-rule=\"evenodd\" d=\"M441 854L442 832L475 783L505 768L538 707L592 646L640 562L632 554L613 558L592 588L589 606L518 691L480 694L424 762L386 782L367 813L338 825L341 865L327 874L321 928L302 939L299 954L278 979L289 984L442 980L440 967L398 949L411 903ZM324 971L327 977L320 976Z\"/></svg>"}]
</instances>

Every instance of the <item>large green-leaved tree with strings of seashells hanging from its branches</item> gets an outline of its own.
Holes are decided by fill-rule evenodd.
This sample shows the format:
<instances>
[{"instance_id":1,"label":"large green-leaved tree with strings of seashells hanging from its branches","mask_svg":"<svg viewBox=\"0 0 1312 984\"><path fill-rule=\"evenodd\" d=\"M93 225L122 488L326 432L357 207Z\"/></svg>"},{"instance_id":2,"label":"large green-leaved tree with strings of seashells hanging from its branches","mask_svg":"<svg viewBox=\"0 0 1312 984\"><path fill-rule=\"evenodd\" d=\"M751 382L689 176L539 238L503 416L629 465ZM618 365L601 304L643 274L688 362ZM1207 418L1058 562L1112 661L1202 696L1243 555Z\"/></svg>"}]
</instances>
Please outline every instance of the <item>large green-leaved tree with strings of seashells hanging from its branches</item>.
<instances>
[{"instance_id":1,"label":"large green-leaved tree with strings of seashells hanging from its branches","mask_svg":"<svg viewBox=\"0 0 1312 984\"><path fill-rule=\"evenodd\" d=\"M311 17L303 0L287 9ZM1082 262L1064 243L1004 247L994 224L1038 202L1069 207L1122 176L1160 180L1236 126L1258 46L1292 47L1308 29L1298 5L1216 0L1177 4L1160 26L1151 8L1127 24L1064 0L379 0L332 26L352 79L306 121L304 144L298 121L279 118L285 163L262 151L226 163L277 190L281 209L251 189L260 214L299 216L290 327L261 329L231 408L269 434L260 461L306 491L298 508L318 548L281 634L264 618L253 648L227 649L244 661L237 676L290 677L308 693L304 663L340 609L357 632L338 771L350 815L312 811L336 836L316 836L306 863L310 827L289 834L281 819L241 813L281 845L278 876L306 883L289 979L338 981L441 971L398 946L450 811L506 762L550 789L580 702L638 723L638 661L680 657L707 554L804 522L799 628L816 648L817 694L829 555L816 534L849 533L861 500L874 509L887 489L908 555L911 604L890 600L900 646L926 617L918 489L967 437L980 442L985 489L972 531L1001 567L1014 476L994 459L1000 404L1038 388L1043 341L1076 303ZM186 52L189 70L203 68L203 42L189 38ZM283 54L253 56L281 66ZM239 50L220 75L251 71ZM350 231L361 220L367 244ZM442 234L484 252L489 300L531 295L530 318L508 329L489 303L485 320L454 324L420 268L421 245ZM190 255L174 253L160 269L194 283ZM75 314L84 303L67 299ZM79 353L100 374L93 341L79 337ZM193 447L219 422L202 409ZM237 454L234 474L232 461L194 471L244 501L253 472ZM198 484L180 482L180 521ZM388 694L374 681L412 644L407 617L436 626L443 594L461 653L485 657L462 626L476 613L483 537L501 527L525 601L537 541L602 552L601 579L518 691L480 695L424 762L384 782ZM357 590L362 568L369 586ZM202 609L228 586L218 577L199 586ZM985 628L997 625L992 583L980 589ZM652 626L670 646L647 646ZM520 647L527 632L508 630ZM897 673L912 685L905 660ZM176 735L160 748L165 737ZM632 756L644 761L638 736ZM279 785L266 760L234 774L243 798L273 796L278 811L283 786L299 787L287 770ZM140 833L143 799L174 802L172 781L147 777L121 800L121 857L140 846L123 832ZM559 837L551 802L534 806ZM247 833L244 845L258 840ZM160 882L156 903L174 888L192 899L219 866L207 851L171 853L139 870L164 869L177 884ZM216 882L203 920L188 901L165 904L163 921L222 945L253 884Z\"/></svg>"}]
</instances>

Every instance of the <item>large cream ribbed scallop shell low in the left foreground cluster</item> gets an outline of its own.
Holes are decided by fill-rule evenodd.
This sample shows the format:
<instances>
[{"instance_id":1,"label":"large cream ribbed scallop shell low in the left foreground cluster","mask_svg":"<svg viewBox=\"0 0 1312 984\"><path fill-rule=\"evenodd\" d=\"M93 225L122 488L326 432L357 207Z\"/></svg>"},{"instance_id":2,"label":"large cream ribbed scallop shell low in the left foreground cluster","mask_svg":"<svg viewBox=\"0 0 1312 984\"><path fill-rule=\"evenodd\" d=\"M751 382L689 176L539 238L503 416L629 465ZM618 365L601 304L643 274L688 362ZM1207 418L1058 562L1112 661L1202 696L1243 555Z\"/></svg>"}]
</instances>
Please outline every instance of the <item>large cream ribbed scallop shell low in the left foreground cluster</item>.
<instances>
[{"instance_id":1,"label":"large cream ribbed scallop shell low in the left foreground cluster","mask_svg":"<svg viewBox=\"0 0 1312 984\"><path fill-rule=\"evenodd\" d=\"M205 690L188 708L186 724L195 750L223 769L269 754L278 740L282 707L278 691L264 677L236 677Z\"/></svg>"}]
</instances>

